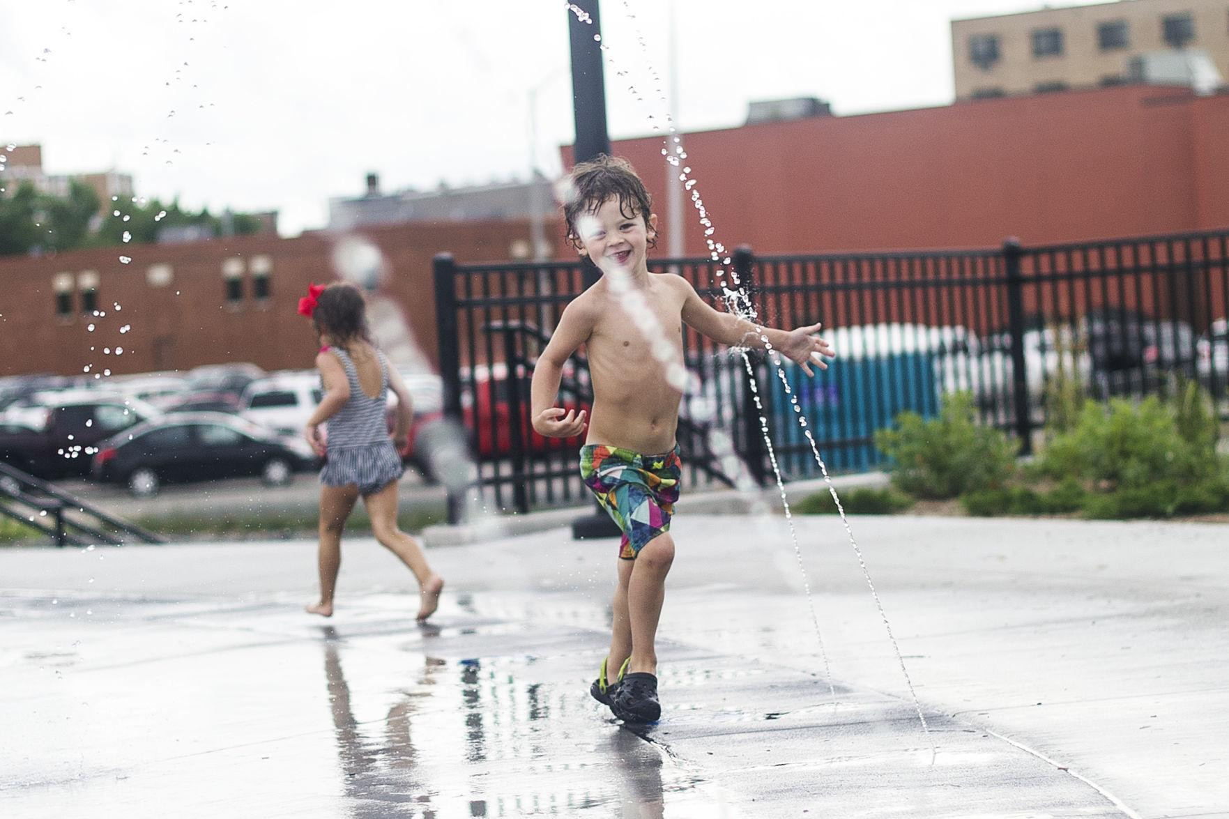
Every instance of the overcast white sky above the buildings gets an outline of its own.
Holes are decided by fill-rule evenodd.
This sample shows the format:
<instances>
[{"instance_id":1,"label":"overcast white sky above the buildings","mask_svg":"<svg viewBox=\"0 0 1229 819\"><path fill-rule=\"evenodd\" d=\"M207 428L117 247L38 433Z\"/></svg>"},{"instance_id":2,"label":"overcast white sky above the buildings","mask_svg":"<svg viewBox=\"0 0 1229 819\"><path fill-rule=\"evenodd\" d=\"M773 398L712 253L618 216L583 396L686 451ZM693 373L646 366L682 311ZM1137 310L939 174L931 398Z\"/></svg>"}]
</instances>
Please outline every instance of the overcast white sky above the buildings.
<instances>
[{"instance_id":1,"label":"overcast white sky above the buildings","mask_svg":"<svg viewBox=\"0 0 1229 819\"><path fill-rule=\"evenodd\" d=\"M819 96L838 114L945 105L950 20L1041 5L673 2L683 130L737 125L761 98ZM601 4L611 60L646 91L637 103L607 64L611 135L650 133L645 114L664 112L644 69L669 82L669 2ZM279 209L294 235L367 171L386 191L526 177L535 87L538 162L558 171L567 15L562 0L0 0L0 143L194 208Z\"/></svg>"}]
</instances>

